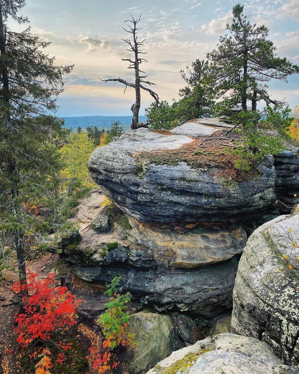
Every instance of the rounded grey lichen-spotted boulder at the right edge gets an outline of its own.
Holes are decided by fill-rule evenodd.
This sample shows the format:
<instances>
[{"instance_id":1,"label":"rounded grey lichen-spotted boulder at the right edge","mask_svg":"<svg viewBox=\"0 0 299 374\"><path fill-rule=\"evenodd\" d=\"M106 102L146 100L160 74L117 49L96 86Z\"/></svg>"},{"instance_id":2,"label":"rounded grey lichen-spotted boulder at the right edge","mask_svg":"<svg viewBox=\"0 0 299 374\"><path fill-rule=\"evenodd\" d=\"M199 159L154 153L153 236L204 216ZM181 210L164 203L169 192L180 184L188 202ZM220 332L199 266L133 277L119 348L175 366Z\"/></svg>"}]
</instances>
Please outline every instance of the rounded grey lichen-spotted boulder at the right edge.
<instances>
[{"instance_id":1,"label":"rounded grey lichen-spotted boulder at the right edge","mask_svg":"<svg viewBox=\"0 0 299 374\"><path fill-rule=\"evenodd\" d=\"M280 216L249 237L234 288L231 331L265 341L299 365L299 215Z\"/></svg>"}]
</instances>

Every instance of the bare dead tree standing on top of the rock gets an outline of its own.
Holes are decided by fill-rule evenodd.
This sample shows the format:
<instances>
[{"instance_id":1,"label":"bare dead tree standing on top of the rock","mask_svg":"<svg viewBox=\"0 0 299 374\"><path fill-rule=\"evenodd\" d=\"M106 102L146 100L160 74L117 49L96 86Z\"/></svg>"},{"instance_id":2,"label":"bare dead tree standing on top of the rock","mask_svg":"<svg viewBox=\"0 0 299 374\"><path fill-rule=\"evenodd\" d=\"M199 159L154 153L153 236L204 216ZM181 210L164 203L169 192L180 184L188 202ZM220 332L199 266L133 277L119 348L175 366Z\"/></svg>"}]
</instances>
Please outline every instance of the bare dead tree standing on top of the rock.
<instances>
[{"instance_id":1,"label":"bare dead tree standing on top of the rock","mask_svg":"<svg viewBox=\"0 0 299 374\"><path fill-rule=\"evenodd\" d=\"M148 62L146 59L139 57L140 54L145 55L147 53L147 52L142 52L142 50L140 50L141 46L144 45L145 39L142 40L141 42L138 42L137 31L140 30L140 28L137 27L137 24L141 19L141 15L138 19L135 19L131 14L131 18L132 19L124 21L124 22L127 22L127 27L128 27L129 30L127 30L125 28L123 28L123 29L127 33L132 34L130 37L133 40L130 40L130 39L121 39L121 40L123 40L125 43L127 43L129 45L130 48L127 49L127 50L134 53L135 59L132 60L130 58L122 58L122 61L129 61L130 65L129 65L128 69L135 69L135 74L134 74L135 83L129 83L125 79L121 79L120 77L111 78L111 79L101 79L101 78L99 78L99 79L101 79L102 82L105 82L105 83L106 82L120 82L120 83L123 83L123 85L125 85L126 88L127 88L127 86L135 88L136 101L135 101L135 104L133 104L132 107L131 107L131 110L133 112L131 128L132 129L138 129L138 127L140 127L138 117L139 117L139 109L140 109L140 102L141 102L141 95L140 95L141 89L143 89L145 91L148 91L152 95L152 97L155 99L155 102L156 102L157 105L159 103L159 97L158 97L157 93L152 91L150 88L144 86L144 84L149 85L149 86L155 86L155 83L152 83L152 82L149 82L149 81L145 80L145 78L147 78L147 75L140 75L140 73L146 74L146 71L142 71L139 68L139 65L141 65L142 62ZM124 89L124 93L126 92L126 88Z\"/></svg>"}]
</instances>

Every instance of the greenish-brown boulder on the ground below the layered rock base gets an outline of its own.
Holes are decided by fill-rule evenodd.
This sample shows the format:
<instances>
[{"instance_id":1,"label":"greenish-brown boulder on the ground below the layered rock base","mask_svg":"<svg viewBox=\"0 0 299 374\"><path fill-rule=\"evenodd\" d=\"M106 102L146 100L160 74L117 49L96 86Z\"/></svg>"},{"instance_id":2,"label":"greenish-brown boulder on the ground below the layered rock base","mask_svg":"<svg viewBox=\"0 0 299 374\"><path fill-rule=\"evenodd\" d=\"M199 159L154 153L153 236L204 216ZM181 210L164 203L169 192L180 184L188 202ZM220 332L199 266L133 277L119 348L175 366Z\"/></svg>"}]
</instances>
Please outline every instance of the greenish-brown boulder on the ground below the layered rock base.
<instances>
[{"instance_id":1,"label":"greenish-brown boulder on the ground below the layered rock base","mask_svg":"<svg viewBox=\"0 0 299 374\"><path fill-rule=\"evenodd\" d=\"M128 353L127 371L146 373L161 359L179 349L180 343L169 316L139 312L130 316L126 327L138 345Z\"/></svg>"}]
</instances>

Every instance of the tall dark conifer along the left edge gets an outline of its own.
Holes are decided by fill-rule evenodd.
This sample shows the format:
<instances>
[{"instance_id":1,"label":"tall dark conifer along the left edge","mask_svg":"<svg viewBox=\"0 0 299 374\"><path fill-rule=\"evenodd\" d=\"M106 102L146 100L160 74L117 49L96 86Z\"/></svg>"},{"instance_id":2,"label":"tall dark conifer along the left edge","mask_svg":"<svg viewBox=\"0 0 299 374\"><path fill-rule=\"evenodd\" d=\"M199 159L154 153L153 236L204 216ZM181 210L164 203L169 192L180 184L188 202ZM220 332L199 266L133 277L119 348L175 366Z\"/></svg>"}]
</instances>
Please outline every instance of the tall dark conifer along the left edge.
<instances>
[{"instance_id":1,"label":"tall dark conifer along the left edge","mask_svg":"<svg viewBox=\"0 0 299 374\"><path fill-rule=\"evenodd\" d=\"M53 142L62 123L45 114L57 110L63 75L73 68L56 66L55 58L43 52L50 43L33 36L30 27L21 33L9 29L9 18L21 25L28 23L27 17L18 15L24 6L24 0L0 1L1 224L14 237L22 282L25 236L32 220L24 193L29 186L31 191L38 190L55 167L56 156L52 151L49 154L47 143Z\"/></svg>"}]
</instances>

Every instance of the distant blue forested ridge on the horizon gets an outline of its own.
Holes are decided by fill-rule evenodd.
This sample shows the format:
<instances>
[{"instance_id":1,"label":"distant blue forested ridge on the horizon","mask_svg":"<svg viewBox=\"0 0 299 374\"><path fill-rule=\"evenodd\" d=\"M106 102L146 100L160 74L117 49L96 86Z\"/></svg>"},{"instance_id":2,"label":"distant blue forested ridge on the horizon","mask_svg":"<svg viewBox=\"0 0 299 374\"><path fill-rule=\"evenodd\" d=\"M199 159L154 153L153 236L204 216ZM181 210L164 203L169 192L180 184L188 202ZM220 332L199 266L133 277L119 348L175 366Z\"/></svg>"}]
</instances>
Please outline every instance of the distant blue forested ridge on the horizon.
<instances>
[{"instance_id":1,"label":"distant blue forested ridge on the horizon","mask_svg":"<svg viewBox=\"0 0 299 374\"><path fill-rule=\"evenodd\" d=\"M86 129L88 126L97 126L99 130L109 129L111 122L119 121L121 126L125 130L130 128L132 123L132 116L85 116L85 117L64 117L65 127L73 130L77 129L79 126L82 129ZM139 121L147 122L146 116L139 116Z\"/></svg>"}]
</instances>

